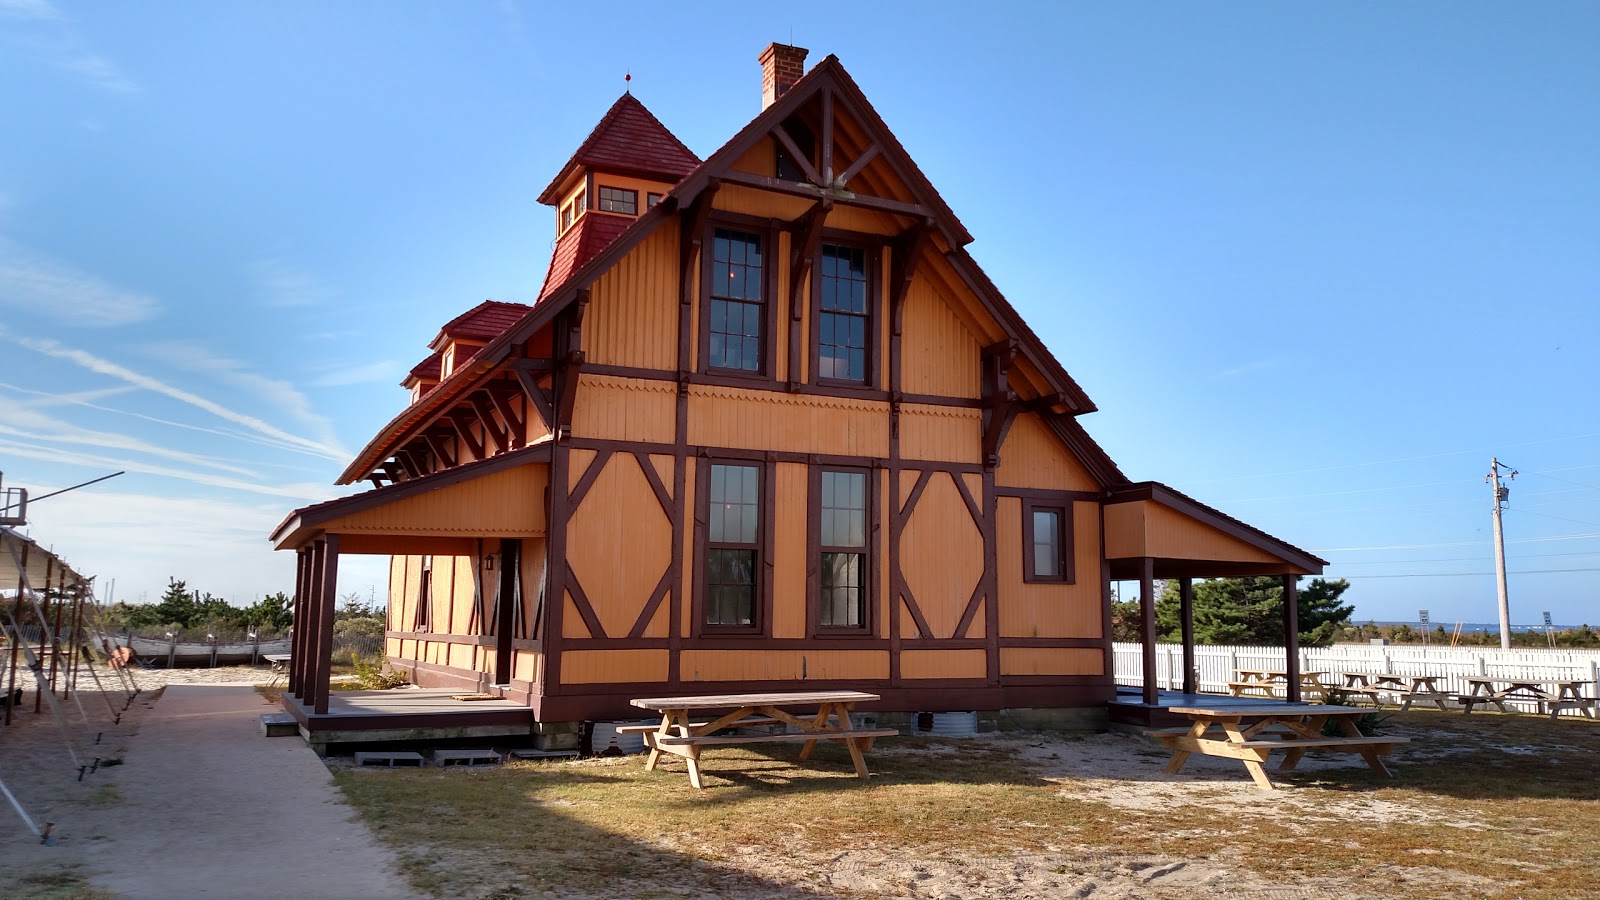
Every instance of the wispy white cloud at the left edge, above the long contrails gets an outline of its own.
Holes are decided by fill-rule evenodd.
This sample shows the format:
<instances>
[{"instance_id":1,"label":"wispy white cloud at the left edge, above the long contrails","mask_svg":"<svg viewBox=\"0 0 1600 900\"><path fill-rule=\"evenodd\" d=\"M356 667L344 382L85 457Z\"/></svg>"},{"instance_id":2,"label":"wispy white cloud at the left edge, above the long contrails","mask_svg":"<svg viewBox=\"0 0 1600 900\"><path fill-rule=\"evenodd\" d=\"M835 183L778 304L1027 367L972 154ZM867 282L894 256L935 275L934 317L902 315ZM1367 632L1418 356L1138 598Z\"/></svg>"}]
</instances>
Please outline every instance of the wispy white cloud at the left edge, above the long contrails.
<instances>
[{"instance_id":1,"label":"wispy white cloud at the left edge, above the long contrails","mask_svg":"<svg viewBox=\"0 0 1600 900\"><path fill-rule=\"evenodd\" d=\"M162 304L0 237L0 307L67 325L115 327L142 322Z\"/></svg>"}]
</instances>

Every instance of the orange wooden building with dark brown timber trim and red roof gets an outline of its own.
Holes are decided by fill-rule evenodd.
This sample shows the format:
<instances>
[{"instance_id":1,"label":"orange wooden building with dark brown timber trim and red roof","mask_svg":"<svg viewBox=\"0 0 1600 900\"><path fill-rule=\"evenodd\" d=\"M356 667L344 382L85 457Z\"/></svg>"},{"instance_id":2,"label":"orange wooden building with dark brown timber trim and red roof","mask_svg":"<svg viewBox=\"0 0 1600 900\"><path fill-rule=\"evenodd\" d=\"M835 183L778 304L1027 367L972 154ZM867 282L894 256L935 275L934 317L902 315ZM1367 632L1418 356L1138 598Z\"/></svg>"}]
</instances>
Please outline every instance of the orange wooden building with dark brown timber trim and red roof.
<instances>
[{"instance_id":1,"label":"orange wooden building with dark brown timber trim and red roof","mask_svg":"<svg viewBox=\"0 0 1600 900\"><path fill-rule=\"evenodd\" d=\"M766 48L760 115L704 160L618 99L539 197L538 301L448 323L339 480L373 488L277 528L302 722L350 552L392 559L395 668L539 722L802 685L1102 708L1110 578L1322 570L1130 482L962 221L805 53Z\"/></svg>"}]
</instances>

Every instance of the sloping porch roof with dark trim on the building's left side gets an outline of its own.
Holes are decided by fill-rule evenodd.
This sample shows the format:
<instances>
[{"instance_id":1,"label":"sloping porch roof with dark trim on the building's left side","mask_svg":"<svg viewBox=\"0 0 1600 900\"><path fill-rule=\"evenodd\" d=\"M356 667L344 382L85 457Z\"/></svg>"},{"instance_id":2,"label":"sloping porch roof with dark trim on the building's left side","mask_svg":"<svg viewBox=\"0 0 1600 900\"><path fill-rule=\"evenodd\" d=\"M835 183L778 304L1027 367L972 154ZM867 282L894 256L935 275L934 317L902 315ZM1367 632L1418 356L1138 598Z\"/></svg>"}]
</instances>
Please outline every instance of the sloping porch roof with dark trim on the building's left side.
<instances>
[{"instance_id":1,"label":"sloping porch roof with dark trim on the building's left side","mask_svg":"<svg viewBox=\"0 0 1600 900\"><path fill-rule=\"evenodd\" d=\"M544 536L549 439L398 484L290 512L274 549L299 549L323 533L339 552L461 552L478 538Z\"/></svg>"}]
</instances>

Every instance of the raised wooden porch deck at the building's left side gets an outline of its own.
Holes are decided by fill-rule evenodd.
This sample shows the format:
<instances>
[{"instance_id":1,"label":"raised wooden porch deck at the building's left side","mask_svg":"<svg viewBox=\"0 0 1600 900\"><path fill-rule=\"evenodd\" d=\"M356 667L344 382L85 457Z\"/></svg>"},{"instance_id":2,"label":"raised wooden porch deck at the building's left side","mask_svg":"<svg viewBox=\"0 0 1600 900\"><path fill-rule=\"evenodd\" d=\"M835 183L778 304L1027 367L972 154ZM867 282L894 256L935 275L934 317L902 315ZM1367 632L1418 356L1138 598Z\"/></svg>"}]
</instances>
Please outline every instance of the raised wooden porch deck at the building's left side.
<instances>
[{"instance_id":1,"label":"raised wooden porch deck at the building's left side","mask_svg":"<svg viewBox=\"0 0 1600 900\"><path fill-rule=\"evenodd\" d=\"M514 700L453 700L461 690L336 690L328 713L285 695L283 708L301 735L320 751L330 743L421 741L478 737L526 737L533 709Z\"/></svg>"}]
</instances>

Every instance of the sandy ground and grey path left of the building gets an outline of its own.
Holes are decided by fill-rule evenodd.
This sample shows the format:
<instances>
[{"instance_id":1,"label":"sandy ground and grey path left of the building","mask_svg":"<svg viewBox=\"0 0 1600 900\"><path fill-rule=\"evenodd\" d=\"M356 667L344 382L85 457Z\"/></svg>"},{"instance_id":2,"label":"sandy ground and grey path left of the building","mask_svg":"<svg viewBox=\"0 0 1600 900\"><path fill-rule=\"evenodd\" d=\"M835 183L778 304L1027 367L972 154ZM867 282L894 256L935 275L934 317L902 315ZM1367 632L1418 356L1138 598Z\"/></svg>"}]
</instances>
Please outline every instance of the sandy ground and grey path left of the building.
<instances>
[{"instance_id":1,"label":"sandy ground and grey path left of the building","mask_svg":"<svg viewBox=\"0 0 1600 900\"><path fill-rule=\"evenodd\" d=\"M0 882L19 889L3 894L406 897L394 854L354 820L304 741L261 737L274 706L251 685L269 677L264 666L139 669L131 705L91 692L82 711L66 703L66 735L48 708L34 713L29 690L0 729L0 778L54 828L40 844L0 809ZM99 769L78 780L74 753Z\"/></svg>"}]
</instances>

